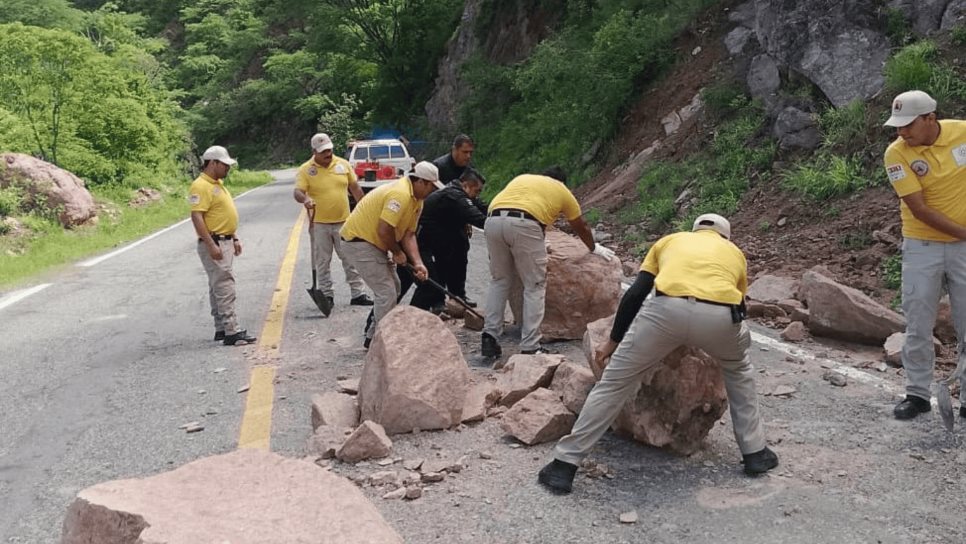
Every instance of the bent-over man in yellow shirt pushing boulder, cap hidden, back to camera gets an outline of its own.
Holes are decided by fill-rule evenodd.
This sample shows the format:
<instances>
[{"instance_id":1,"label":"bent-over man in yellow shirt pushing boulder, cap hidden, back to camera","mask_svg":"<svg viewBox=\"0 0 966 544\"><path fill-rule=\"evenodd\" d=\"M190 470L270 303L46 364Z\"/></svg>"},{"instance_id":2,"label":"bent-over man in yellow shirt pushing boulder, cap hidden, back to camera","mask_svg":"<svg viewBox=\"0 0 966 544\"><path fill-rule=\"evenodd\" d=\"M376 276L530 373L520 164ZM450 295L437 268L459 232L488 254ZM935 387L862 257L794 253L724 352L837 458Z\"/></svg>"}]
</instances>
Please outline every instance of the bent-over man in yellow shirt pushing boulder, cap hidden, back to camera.
<instances>
[{"instance_id":1,"label":"bent-over man in yellow shirt pushing boulder, cap hidden, back to camera","mask_svg":"<svg viewBox=\"0 0 966 544\"><path fill-rule=\"evenodd\" d=\"M503 353L497 338L503 330L507 299L515 285L523 287L520 352L540 352L547 287L543 232L558 215L563 213L588 250L607 259L614 256L613 251L594 243L590 227L580 215L580 204L564 185L566 181L567 176L559 167L541 175L523 174L510 180L490 202L483 227L492 277L481 339L484 357L499 357Z\"/></svg>"}]
</instances>

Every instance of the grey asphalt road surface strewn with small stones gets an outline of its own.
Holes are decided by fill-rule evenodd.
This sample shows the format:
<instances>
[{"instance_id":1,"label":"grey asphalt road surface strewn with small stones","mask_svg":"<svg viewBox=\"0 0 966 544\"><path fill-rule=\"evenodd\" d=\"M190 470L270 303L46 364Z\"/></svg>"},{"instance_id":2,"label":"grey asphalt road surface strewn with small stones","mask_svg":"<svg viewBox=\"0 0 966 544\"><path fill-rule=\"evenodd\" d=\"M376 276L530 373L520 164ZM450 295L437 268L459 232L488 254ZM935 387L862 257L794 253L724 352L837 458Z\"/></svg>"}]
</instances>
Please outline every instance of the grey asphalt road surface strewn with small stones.
<instances>
[{"instance_id":1,"label":"grey asphalt road surface strewn with small stones","mask_svg":"<svg viewBox=\"0 0 966 544\"><path fill-rule=\"evenodd\" d=\"M245 243L236 262L238 311L256 334L300 211L291 189L286 172L237 202ZM248 382L254 348L211 342L195 244L190 225L180 225L96 266L69 268L50 287L0 309L0 542L57 542L79 490L237 447L245 403L238 389ZM336 307L322 318L305 293L303 236L275 383L271 447L285 455L306 455L311 395L358 377L365 360L368 308L347 305L341 267L334 262L332 270ZM487 277L477 233L471 298L483 300ZM490 373L480 364L478 333L449 325L473 372ZM551 444L520 447L488 419L392 437L397 459L465 458L466 469L427 485L421 498L363 491L409 543L966 541L962 425L946 433L935 411L913 422L892 419L901 370L864 368L876 350L815 343L802 350L776 341L774 331L755 331L762 413L782 463L767 476L741 473L726 416L706 448L687 458L608 434L592 459L611 477L581 473L572 495L556 497L536 484ZM513 353L512 337L504 348ZM576 343L553 348L583 357ZM845 373L848 384L823 380L830 370ZM770 395L779 385L795 392ZM205 429L179 428L192 421ZM357 478L400 469L331 468ZM637 523L620 523L632 510Z\"/></svg>"}]
</instances>

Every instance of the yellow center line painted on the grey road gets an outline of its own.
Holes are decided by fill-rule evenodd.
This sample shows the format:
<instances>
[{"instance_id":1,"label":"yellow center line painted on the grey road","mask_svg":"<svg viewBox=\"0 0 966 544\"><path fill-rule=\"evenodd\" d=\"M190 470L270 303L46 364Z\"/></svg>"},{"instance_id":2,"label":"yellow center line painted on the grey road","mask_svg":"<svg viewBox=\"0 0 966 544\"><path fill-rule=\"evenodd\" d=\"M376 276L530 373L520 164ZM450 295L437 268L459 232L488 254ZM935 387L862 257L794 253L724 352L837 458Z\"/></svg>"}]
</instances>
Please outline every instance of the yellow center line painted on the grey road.
<instances>
[{"instance_id":1,"label":"yellow center line painted on the grey road","mask_svg":"<svg viewBox=\"0 0 966 544\"><path fill-rule=\"evenodd\" d=\"M302 224L305 215L299 213L292 234L288 238L285 257L278 272L278 282L272 295L272 305L268 309L262 334L258 336L257 354L266 364L256 363L252 367L248 381L248 397L245 400L245 413L242 416L241 432L238 437L239 448L267 450L272 436L272 403L275 400L275 368L279 345L282 343L282 326L285 322L285 309L292 288L292 275L298 257L299 239L302 237Z\"/></svg>"}]
</instances>

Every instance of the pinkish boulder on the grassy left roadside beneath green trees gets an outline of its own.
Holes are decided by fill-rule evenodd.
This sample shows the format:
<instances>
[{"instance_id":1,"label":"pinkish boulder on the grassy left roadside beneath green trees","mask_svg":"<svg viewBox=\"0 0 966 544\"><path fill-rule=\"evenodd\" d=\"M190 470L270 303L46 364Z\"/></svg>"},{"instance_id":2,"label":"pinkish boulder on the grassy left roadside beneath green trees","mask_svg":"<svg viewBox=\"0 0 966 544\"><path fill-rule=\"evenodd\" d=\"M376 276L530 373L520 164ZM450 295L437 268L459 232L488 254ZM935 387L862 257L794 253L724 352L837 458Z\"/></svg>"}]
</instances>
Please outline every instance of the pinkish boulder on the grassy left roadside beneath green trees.
<instances>
[{"instance_id":1,"label":"pinkish boulder on the grassy left roadside beneath green trees","mask_svg":"<svg viewBox=\"0 0 966 544\"><path fill-rule=\"evenodd\" d=\"M97 216L94 198L84 187L84 180L30 155L4 153L2 157L0 187L23 187L28 205L57 210L57 219L67 228Z\"/></svg>"}]
</instances>

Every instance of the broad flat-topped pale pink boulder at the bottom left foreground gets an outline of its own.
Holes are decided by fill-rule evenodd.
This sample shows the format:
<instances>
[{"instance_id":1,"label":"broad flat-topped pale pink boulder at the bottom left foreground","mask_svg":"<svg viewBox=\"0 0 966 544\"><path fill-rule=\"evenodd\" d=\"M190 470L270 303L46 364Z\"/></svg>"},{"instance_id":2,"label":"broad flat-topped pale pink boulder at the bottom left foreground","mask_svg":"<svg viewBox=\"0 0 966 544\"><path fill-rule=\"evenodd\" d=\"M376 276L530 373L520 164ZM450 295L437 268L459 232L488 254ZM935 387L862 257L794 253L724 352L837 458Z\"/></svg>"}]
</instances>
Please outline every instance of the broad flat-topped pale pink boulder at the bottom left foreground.
<instances>
[{"instance_id":1,"label":"broad flat-topped pale pink boulder at the bottom left foreground","mask_svg":"<svg viewBox=\"0 0 966 544\"><path fill-rule=\"evenodd\" d=\"M402 543L365 496L314 463L254 449L77 494L62 544Z\"/></svg>"}]
</instances>

